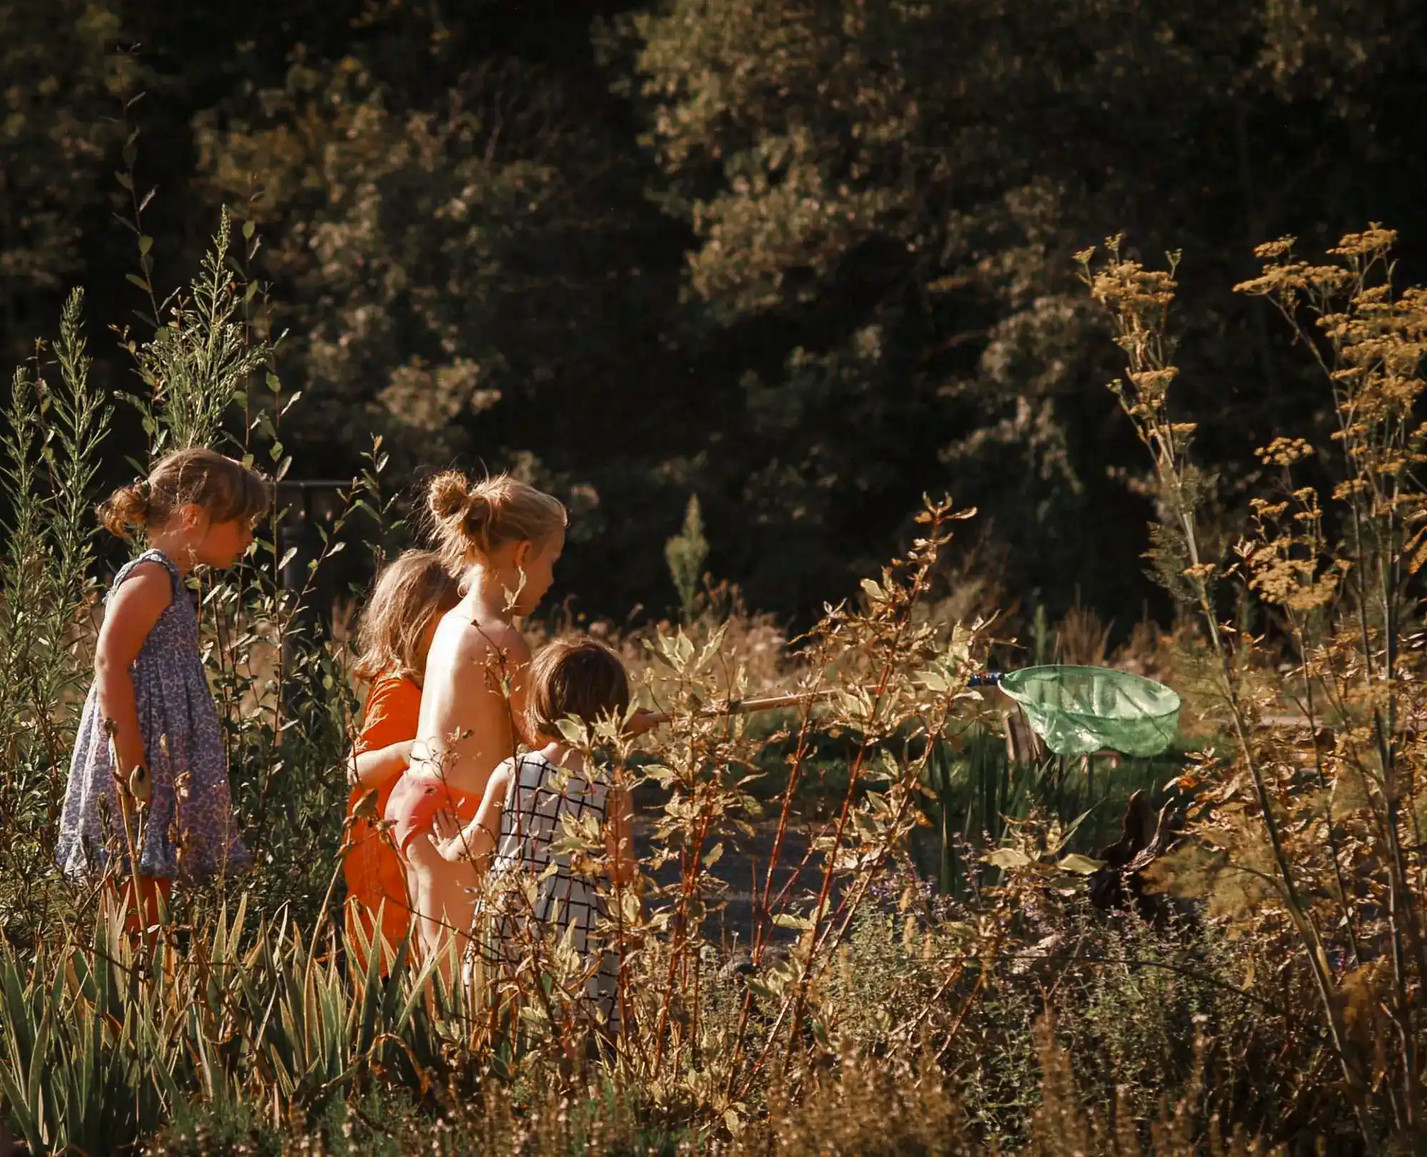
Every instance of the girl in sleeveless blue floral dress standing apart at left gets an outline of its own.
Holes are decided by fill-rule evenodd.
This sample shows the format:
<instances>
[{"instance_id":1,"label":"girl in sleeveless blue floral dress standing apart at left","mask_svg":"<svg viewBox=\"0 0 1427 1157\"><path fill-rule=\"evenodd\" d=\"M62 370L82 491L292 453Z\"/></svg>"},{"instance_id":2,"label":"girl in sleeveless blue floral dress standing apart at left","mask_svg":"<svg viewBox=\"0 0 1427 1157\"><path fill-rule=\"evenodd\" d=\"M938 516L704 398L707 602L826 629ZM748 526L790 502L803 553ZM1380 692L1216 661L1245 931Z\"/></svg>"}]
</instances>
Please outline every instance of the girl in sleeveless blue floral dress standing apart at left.
<instances>
[{"instance_id":1,"label":"girl in sleeveless blue floral dress standing apart at left","mask_svg":"<svg viewBox=\"0 0 1427 1157\"><path fill-rule=\"evenodd\" d=\"M143 529L148 549L114 576L106 599L56 856L74 880L121 873L131 889L131 927L157 923L158 897L167 900L174 879L251 865L233 817L223 730L184 579L194 566L227 568L243 558L271 501L270 484L240 462L181 449L100 508L121 538ZM134 785L126 799L147 796L143 807L120 806L116 758Z\"/></svg>"}]
</instances>

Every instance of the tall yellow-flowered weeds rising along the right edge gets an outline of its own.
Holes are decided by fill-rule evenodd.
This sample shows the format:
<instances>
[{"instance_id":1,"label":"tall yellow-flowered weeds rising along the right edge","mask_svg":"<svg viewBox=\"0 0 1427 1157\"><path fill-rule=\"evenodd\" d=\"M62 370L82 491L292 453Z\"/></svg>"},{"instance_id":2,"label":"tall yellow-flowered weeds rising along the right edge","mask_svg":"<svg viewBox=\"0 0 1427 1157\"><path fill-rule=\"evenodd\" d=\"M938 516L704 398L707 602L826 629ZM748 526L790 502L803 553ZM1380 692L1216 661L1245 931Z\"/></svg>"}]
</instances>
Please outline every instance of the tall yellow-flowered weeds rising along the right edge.
<instances>
[{"instance_id":1,"label":"tall yellow-flowered weeds rising along the right edge","mask_svg":"<svg viewBox=\"0 0 1427 1157\"><path fill-rule=\"evenodd\" d=\"M1229 750L1184 778L1193 839L1162 885L1207 902L1253 984L1274 974L1314 1014L1360 1144L1421 1144L1424 746L1421 581L1427 427L1418 402L1427 292L1394 281L1394 234L1344 237L1326 264L1283 238L1237 287L1274 307L1331 402L1327 445L1264 437L1270 481L1241 534L1206 534L1194 424L1174 412L1174 265L1149 270L1112 240L1086 282L1127 360L1113 388L1154 465L1152 558L1202 628L1197 678ZM1236 593L1236 589L1240 593ZM1267 609L1254 633L1244 595ZM1287 679L1264 679L1273 652Z\"/></svg>"}]
</instances>

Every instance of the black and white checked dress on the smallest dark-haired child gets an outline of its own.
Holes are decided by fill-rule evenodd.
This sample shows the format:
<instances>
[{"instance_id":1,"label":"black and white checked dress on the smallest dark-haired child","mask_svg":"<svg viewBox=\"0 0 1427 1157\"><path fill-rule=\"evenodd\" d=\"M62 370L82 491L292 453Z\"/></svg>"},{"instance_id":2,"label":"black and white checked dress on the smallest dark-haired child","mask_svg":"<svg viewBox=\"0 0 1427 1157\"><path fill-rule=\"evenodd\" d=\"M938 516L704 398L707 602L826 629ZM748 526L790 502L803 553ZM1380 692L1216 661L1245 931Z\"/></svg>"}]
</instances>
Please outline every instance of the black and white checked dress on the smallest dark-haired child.
<instances>
[{"instance_id":1,"label":"black and white checked dress on the smallest dark-haired child","mask_svg":"<svg viewBox=\"0 0 1427 1157\"><path fill-rule=\"evenodd\" d=\"M564 836L564 816L595 816L605 830L609 788L598 778L558 768L539 752L502 765L505 770L512 768L518 773L509 776L505 792L501 835L485 896L475 909L471 950L488 967L514 969L531 956L532 942L534 950L548 956L574 929L572 946L586 973L585 996L614 1024L619 960L599 933L604 899L595 879L572 870L568 853L551 850L551 843ZM554 872L548 870L551 865ZM534 904L527 899L531 882ZM468 960L468 974L472 963Z\"/></svg>"}]
</instances>

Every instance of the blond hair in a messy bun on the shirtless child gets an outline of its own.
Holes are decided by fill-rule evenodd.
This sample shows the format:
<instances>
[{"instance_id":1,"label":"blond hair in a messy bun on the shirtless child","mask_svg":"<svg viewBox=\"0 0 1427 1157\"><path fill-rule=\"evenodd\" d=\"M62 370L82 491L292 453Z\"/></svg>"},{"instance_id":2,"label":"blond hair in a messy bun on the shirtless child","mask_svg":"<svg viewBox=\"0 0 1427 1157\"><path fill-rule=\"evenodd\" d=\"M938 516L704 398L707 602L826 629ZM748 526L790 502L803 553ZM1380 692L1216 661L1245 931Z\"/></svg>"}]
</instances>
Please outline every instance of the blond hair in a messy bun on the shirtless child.
<instances>
[{"instance_id":1,"label":"blond hair in a messy bun on the shirtless child","mask_svg":"<svg viewBox=\"0 0 1427 1157\"><path fill-rule=\"evenodd\" d=\"M508 474L472 482L461 471L442 471L427 484L427 509L451 571L465 569L507 542L544 545L568 522L558 498Z\"/></svg>"}]
</instances>

